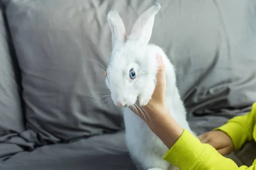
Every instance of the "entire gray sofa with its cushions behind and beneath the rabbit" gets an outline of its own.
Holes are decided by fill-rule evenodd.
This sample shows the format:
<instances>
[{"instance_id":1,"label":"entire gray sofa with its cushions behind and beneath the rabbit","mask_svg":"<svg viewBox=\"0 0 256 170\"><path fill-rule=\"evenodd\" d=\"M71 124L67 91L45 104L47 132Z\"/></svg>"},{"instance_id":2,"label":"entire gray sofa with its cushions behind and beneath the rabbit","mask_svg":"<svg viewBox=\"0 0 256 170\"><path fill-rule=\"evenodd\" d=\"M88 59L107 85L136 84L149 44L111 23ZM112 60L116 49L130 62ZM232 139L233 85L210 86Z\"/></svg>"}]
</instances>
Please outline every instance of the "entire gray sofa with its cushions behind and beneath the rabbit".
<instances>
[{"instance_id":1,"label":"entire gray sofa with its cushions behind and beneath the rabbit","mask_svg":"<svg viewBox=\"0 0 256 170\"><path fill-rule=\"evenodd\" d=\"M109 98L106 14L127 32L155 0L0 0L0 170L134 170ZM158 0L150 42L177 68L198 134L256 101L256 1ZM250 165L256 144L228 157Z\"/></svg>"}]
</instances>

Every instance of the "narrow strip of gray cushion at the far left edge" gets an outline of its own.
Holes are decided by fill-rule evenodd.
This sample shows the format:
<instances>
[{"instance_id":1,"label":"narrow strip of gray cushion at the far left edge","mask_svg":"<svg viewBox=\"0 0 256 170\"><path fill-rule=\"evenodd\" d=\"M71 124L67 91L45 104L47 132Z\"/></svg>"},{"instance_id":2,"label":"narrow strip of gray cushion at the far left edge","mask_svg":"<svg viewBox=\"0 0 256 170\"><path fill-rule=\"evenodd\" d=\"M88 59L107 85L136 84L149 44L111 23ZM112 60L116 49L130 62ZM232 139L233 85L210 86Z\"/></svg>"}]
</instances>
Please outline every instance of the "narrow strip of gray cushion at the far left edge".
<instances>
[{"instance_id":1,"label":"narrow strip of gray cushion at the far left edge","mask_svg":"<svg viewBox=\"0 0 256 170\"><path fill-rule=\"evenodd\" d=\"M0 137L25 129L20 101L20 74L6 21L0 9Z\"/></svg>"}]
</instances>

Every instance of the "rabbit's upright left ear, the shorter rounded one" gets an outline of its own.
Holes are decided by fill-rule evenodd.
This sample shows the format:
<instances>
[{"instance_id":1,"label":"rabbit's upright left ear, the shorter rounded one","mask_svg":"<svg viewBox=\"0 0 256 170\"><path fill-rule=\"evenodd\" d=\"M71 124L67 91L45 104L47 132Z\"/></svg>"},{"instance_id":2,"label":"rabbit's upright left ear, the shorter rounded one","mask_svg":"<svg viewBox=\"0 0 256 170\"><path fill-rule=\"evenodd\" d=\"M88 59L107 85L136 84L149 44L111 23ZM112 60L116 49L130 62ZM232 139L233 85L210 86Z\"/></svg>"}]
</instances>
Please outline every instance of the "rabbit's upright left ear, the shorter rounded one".
<instances>
[{"instance_id":1,"label":"rabbit's upright left ear, the shorter rounded one","mask_svg":"<svg viewBox=\"0 0 256 170\"><path fill-rule=\"evenodd\" d=\"M111 28L112 33L112 49L122 45L126 41L126 31L124 23L122 22L121 17L118 12L111 10L108 12L107 20Z\"/></svg>"}]
</instances>

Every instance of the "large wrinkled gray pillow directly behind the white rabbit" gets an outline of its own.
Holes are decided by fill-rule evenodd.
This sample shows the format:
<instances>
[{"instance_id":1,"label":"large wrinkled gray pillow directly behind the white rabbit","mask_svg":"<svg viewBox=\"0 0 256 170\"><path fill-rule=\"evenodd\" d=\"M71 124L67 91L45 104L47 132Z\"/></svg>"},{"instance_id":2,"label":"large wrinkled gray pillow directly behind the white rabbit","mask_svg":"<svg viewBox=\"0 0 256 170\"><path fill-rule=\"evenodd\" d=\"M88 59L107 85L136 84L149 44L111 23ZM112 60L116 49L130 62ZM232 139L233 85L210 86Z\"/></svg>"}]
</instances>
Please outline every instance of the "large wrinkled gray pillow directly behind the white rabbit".
<instances>
[{"instance_id":1,"label":"large wrinkled gray pillow directly behind the white rabbit","mask_svg":"<svg viewBox=\"0 0 256 170\"><path fill-rule=\"evenodd\" d=\"M118 10L129 34L138 15L154 2L9 3L6 12L22 69L26 126L38 139L57 142L123 127L104 82L101 56L106 60L111 50L106 14ZM239 110L256 101L254 0L158 2L161 9L150 42L161 46L176 65L189 113Z\"/></svg>"}]
</instances>

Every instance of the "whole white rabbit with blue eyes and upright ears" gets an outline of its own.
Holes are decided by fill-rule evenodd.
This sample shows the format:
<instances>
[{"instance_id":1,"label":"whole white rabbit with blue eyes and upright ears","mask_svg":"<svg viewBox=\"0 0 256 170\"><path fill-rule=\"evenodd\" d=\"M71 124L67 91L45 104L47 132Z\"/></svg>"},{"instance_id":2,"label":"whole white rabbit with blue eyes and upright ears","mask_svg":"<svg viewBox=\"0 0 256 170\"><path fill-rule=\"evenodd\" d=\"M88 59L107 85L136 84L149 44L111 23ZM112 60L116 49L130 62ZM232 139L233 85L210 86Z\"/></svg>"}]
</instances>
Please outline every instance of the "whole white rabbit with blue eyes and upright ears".
<instances>
[{"instance_id":1,"label":"whole white rabbit with blue eyes and upright ears","mask_svg":"<svg viewBox=\"0 0 256 170\"><path fill-rule=\"evenodd\" d=\"M166 69L168 110L181 127L192 132L176 86L175 67L160 47L148 44L154 16L159 9L160 4L155 3L143 12L134 23L129 36L126 36L125 26L117 11L109 11L107 16L112 32L112 51L108 59L106 84L114 104L123 107L126 146L134 163L143 170L177 168L163 160L168 151L166 145L127 107L138 104L144 106L151 99L157 83L157 54L162 56Z\"/></svg>"}]
</instances>

